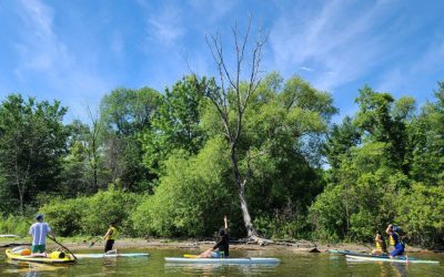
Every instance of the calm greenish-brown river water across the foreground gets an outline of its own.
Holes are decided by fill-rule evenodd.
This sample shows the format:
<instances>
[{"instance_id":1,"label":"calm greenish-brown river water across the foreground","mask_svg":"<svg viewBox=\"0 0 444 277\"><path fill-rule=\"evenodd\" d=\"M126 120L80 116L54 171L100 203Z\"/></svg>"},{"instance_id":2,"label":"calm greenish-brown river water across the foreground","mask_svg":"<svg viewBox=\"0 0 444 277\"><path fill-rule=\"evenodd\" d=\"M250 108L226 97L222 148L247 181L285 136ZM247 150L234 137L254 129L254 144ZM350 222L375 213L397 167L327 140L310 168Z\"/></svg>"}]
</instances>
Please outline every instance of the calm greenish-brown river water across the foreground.
<instances>
[{"instance_id":1,"label":"calm greenish-brown river water across the foreground","mask_svg":"<svg viewBox=\"0 0 444 277\"><path fill-rule=\"evenodd\" d=\"M233 250L233 257L276 257L281 264L265 265L178 265L164 257L180 257L184 250L125 249L147 252L150 257L79 259L74 265L50 266L6 259L0 249L0 276L444 276L444 254L415 254L412 257L440 260L440 265L347 261L332 254Z\"/></svg>"}]
</instances>

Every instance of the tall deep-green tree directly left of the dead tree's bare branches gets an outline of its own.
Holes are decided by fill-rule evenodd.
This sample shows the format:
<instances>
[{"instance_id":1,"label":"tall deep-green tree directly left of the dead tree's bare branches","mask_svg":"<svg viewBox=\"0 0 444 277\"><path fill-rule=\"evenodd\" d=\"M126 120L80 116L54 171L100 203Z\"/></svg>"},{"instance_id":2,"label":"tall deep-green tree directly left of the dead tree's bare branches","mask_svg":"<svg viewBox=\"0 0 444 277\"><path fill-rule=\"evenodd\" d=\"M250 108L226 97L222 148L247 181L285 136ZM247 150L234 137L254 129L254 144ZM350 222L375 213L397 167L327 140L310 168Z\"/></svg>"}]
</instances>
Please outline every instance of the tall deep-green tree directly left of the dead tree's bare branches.
<instances>
[{"instance_id":1,"label":"tall deep-green tree directly left of the dead tree's bare branches","mask_svg":"<svg viewBox=\"0 0 444 277\"><path fill-rule=\"evenodd\" d=\"M206 79L195 75L184 76L165 90L152 126L142 138L143 161L151 171L161 174L162 163L176 150L195 155L202 148L206 134L200 122L208 90Z\"/></svg>"}]
</instances>

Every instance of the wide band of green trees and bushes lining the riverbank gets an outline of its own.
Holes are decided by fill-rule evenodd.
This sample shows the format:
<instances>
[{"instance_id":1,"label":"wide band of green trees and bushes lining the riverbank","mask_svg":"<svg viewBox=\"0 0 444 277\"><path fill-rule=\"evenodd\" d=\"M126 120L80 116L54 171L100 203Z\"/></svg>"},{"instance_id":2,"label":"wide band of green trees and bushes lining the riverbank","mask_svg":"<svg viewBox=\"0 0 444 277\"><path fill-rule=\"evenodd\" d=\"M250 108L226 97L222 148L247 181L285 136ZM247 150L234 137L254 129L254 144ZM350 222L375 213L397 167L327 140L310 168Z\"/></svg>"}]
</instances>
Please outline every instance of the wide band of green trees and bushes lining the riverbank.
<instances>
[{"instance_id":1,"label":"wide band of green trees and bushes lining the riverbank","mask_svg":"<svg viewBox=\"0 0 444 277\"><path fill-rule=\"evenodd\" d=\"M205 237L226 214L232 235L245 236L209 90L214 82L195 75L163 93L121 88L88 110L88 123L70 124L59 101L7 96L0 232L24 233L19 216L40 211L63 236L102 234L114 220L127 236ZM371 242L394 223L412 244L444 245L444 82L434 95L417 107L364 86L359 111L332 124L330 93L297 76L264 78L236 144L260 235ZM228 114L239 112L231 101Z\"/></svg>"}]
</instances>

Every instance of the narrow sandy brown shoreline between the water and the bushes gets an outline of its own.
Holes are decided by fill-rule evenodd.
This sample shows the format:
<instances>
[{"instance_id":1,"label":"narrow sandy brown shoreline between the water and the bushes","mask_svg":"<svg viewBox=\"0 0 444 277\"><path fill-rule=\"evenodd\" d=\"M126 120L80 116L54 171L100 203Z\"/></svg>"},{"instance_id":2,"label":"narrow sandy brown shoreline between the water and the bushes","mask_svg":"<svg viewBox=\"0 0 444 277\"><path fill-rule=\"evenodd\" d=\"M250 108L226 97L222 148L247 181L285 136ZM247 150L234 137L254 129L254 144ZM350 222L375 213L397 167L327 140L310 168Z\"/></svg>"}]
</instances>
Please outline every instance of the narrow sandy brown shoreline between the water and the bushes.
<instances>
[{"instance_id":1,"label":"narrow sandy brown shoreline between the water and the bushes","mask_svg":"<svg viewBox=\"0 0 444 277\"><path fill-rule=\"evenodd\" d=\"M10 248L17 245L27 245L30 239L27 238L17 238L17 239L1 239L0 248ZM92 240L87 240L82 238L61 238L59 240L65 247L71 250L99 250L103 249L104 243L103 240L99 240L92 246L89 247ZM153 238L153 239L143 239L143 238L121 238L118 239L114 244L114 248L118 249L190 249L194 252L203 252L208 249L215 242L211 240L193 240L193 239L162 239L162 238ZM48 246L56 245L53 242L48 240ZM329 249L339 249L339 250L352 250L357 253L369 253L373 248L370 244L353 244L353 243L319 243L319 242L307 242L307 240L295 240L292 243L282 243L275 242L274 244L269 244L265 246L261 246L258 244L248 244L248 243L231 243L230 249L233 250L273 250L273 252L292 252L292 253L327 253ZM414 246L406 247L406 253L440 253L432 249L425 249Z\"/></svg>"}]
</instances>

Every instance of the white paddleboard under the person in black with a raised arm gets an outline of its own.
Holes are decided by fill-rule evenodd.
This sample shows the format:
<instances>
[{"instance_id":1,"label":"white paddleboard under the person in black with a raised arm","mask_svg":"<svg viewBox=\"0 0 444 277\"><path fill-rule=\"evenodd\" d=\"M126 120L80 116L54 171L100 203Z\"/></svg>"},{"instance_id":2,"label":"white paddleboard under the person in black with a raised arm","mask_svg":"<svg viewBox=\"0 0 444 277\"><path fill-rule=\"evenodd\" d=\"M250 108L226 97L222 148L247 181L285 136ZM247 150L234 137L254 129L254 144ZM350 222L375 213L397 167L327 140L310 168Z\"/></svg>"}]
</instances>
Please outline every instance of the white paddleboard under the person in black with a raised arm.
<instances>
[{"instance_id":1,"label":"white paddleboard under the person in black with a raised arm","mask_svg":"<svg viewBox=\"0 0 444 277\"><path fill-rule=\"evenodd\" d=\"M191 255L190 255L191 256ZM184 258L184 257L165 257L167 263L176 264L224 264L224 265L273 265L279 264L279 258Z\"/></svg>"}]
</instances>

